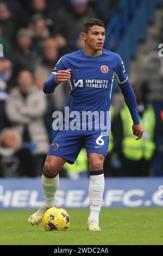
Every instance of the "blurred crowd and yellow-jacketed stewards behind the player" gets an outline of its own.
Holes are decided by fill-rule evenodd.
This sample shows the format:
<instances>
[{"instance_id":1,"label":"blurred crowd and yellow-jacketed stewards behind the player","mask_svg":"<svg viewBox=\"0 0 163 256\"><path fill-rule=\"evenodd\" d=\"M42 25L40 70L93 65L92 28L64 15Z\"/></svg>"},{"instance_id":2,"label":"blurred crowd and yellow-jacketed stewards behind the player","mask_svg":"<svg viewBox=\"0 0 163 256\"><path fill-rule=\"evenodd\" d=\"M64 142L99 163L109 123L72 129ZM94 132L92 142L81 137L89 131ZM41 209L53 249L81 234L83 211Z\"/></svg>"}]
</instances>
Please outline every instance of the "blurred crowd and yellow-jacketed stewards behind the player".
<instances>
[{"instance_id":1,"label":"blurred crowd and yellow-jacketed stewards behind the player","mask_svg":"<svg viewBox=\"0 0 163 256\"><path fill-rule=\"evenodd\" d=\"M0 1L0 176L39 176L46 153L56 133L52 113L70 102L67 83L53 95L42 93L43 82L58 59L84 46L82 25L93 17L105 25L118 11L120 0L5 0ZM104 169L108 176L150 175L154 156L155 117L147 102L147 86L135 94L146 137L139 144L131 138L131 120L122 106L112 107L110 148ZM163 115L160 115L160 123ZM151 122L151 123L150 123ZM125 127L125 125L126 127ZM150 123L150 124L149 124ZM149 127L149 128L148 128ZM162 123L160 124L162 131ZM135 139L135 138L134 138ZM132 148L133 145L133 148ZM139 152L139 156L137 156ZM87 156L82 149L76 163L65 164L62 176L87 175Z\"/></svg>"}]
</instances>

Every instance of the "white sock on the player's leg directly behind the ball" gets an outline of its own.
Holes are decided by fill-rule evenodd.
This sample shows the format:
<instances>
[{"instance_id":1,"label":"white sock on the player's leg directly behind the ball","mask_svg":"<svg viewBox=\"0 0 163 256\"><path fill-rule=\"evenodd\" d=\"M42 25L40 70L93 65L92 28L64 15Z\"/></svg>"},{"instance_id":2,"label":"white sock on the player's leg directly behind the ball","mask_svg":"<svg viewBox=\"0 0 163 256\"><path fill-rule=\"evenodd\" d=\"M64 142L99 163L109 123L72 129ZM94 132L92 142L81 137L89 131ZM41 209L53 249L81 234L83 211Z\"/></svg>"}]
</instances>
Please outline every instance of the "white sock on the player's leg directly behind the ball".
<instances>
[{"instance_id":1,"label":"white sock on the player's leg directly behind the ball","mask_svg":"<svg viewBox=\"0 0 163 256\"><path fill-rule=\"evenodd\" d=\"M54 178L48 178L42 174L42 187L45 196L45 206L55 206L55 193L59 187L59 174Z\"/></svg>"}]
</instances>

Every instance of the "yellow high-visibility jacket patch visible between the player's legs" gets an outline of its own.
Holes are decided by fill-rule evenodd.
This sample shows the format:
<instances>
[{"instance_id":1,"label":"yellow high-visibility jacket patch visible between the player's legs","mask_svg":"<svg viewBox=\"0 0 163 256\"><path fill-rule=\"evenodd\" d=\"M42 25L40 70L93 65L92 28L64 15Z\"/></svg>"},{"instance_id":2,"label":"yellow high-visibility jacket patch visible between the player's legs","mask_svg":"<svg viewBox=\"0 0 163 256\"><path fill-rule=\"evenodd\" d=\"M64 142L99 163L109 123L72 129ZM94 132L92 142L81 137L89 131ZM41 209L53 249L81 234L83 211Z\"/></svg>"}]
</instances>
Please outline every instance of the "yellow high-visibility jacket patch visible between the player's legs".
<instances>
[{"instance_id":1,"label":"yellow high-visibility jacket patch visible between the player's legs","mask_svg":"<svg viewBox=\"0 0 163 256\"><path fill-rule=\"evenodd\" d=\"M68 173L87 172L87 153L85 148L82 148L74 164L65 163L64 168Z\"/></svg>"}]
</instances>

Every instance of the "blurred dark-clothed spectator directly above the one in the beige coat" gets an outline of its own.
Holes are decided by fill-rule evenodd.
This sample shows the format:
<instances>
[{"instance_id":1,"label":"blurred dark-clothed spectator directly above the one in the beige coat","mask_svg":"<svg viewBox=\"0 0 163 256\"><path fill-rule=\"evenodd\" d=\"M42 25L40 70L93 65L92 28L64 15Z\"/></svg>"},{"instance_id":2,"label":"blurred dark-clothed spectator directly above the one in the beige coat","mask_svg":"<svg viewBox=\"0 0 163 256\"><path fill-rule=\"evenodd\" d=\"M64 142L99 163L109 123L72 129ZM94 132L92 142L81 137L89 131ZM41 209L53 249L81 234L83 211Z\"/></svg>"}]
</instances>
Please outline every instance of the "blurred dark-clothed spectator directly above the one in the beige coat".
<instances>
[{"instance_id":1,"label":"blurred dark-clothed spectator directly above the one in the beige coat","mask_svg":"<svg viewBox=\"0 0 163 256\"><path fill-rule=\"evenodd\" d=\"M32 34L27 28L20 28L17 32L17 45L11 52L10 58L14 64L14 78L20 70L34 72L36 55L31 51Z\"/></svg>"}]
</instances>

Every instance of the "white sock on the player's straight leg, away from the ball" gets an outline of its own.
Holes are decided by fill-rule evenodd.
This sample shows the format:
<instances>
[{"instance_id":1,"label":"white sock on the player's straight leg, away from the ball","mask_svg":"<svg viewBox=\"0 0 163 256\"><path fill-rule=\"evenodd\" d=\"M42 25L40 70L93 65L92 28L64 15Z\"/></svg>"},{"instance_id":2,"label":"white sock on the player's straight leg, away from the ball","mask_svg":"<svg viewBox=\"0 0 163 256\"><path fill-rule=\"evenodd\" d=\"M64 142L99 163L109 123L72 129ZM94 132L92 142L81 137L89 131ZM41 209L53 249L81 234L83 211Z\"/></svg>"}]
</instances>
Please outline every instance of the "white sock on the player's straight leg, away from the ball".
<instances>
[{"instance_id":1,"label":"white sock on the player's straight leg, away from the ball","mask_svg":"<svg viewBox=\"0 0 163 256\"><path fill-rule=\"evenodd\" d=\"M95 218L99 223L99 212L101 211L103 192L104 192L104 174L90 175L89 199L90 199L90 219Z\"/></svg>"}]
</instances>

